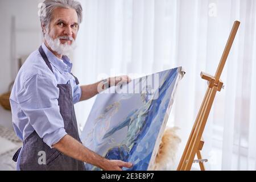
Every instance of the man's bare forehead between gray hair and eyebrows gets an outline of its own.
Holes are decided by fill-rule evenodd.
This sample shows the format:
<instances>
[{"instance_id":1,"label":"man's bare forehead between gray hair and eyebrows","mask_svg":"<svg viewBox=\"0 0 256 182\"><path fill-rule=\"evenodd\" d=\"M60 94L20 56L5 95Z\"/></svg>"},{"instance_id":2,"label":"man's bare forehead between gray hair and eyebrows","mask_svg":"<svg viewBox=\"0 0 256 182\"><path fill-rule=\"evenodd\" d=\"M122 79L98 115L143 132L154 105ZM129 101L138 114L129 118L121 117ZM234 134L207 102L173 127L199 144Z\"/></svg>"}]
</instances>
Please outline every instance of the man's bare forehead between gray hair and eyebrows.
<instances>
[{"instance_id":1,"label":"man's bare forehead between gray hair and eyebrows","mask_svg":"<svg viewBox=\"0 0 256 182\"><path fill-rule=\"evenodd\" d=\"M64 8L57 8L53 11L52 20L54 22L63 20L67 23L77 23L78 16L76 10L74 9L64 9Z\"/></svg>"}]
</instances>

